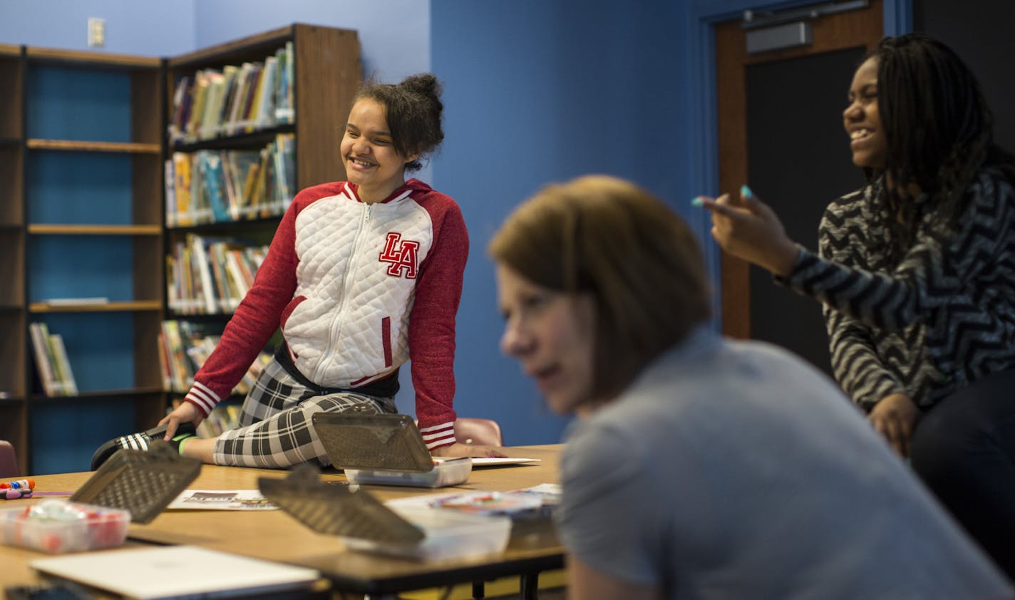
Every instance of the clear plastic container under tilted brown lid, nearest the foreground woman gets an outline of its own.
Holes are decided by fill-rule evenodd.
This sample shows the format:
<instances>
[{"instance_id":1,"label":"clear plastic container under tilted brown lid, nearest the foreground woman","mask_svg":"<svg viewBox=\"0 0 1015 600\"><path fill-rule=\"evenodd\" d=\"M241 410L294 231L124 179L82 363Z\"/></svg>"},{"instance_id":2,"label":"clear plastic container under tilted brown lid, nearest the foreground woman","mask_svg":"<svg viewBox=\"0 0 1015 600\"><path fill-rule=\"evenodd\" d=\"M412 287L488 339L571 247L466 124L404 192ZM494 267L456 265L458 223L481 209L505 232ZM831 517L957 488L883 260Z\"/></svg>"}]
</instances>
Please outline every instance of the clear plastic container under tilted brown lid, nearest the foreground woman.
<instances>
[{"instance_id":1,"label":"clear plastic container under tilted brown lid, nearest the foreground woman","mask_svg":"<svg viewBox=\"0 0 1015 600\"><path fill-rule=\"evenodd\" d=\"M426 536L416 544L396 544L362 538L342 538L353 550L416 560L450 560L499 554L507 547L512 521L507 517L466 515L426 508L391 507Z\"/></svg>"}]
</instances>

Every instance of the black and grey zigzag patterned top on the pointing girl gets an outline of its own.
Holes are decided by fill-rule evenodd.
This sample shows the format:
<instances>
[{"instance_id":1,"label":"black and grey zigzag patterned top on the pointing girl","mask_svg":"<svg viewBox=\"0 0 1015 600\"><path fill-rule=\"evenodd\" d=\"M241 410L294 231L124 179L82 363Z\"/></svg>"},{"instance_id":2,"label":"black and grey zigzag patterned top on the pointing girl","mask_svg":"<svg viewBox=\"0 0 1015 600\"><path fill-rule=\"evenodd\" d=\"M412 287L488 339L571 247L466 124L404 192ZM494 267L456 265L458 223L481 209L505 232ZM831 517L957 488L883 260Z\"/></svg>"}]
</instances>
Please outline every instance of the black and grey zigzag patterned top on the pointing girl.
<instances>
[{"instance_id":1,"label":"black and grey zigzag patterned top on the pointing girl","mask_svg":"<svg viewBox=\"0 0 1015 600\"><path fill-rule=\"evenodd\" d=\"M1015 194L1000 174L982 171L950 236L934 235L925 219L892 264L879 188L832 202L820 256L801 248L781 282L823 304L832 370L855 402L870 410L904 393L927 409L1015 368Z\"/></svg>"}]
</instances>

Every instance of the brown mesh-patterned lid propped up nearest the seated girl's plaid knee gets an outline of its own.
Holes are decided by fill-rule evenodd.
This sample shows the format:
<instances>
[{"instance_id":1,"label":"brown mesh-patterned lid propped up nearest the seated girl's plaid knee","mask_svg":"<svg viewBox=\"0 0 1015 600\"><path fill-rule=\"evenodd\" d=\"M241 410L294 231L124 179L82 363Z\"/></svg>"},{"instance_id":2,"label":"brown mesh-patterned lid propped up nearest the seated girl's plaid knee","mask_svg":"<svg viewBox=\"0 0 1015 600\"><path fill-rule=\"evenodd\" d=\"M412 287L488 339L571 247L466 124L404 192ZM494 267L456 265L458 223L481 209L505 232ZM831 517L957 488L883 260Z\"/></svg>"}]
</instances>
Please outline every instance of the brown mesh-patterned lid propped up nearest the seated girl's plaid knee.
<instances>
[{"instance_id":1,"label":"brown mesh-patterned lid propped up nearest the seated girl's plaid knee","mask_svg":"<svg viewBox=\"0 0 1015 600\"><path fill-rule=\"evenodd\" d=\"M407 414L318 412L311 422L336 469L433 470L426 443Z\"/></svg>"}]
</instances>

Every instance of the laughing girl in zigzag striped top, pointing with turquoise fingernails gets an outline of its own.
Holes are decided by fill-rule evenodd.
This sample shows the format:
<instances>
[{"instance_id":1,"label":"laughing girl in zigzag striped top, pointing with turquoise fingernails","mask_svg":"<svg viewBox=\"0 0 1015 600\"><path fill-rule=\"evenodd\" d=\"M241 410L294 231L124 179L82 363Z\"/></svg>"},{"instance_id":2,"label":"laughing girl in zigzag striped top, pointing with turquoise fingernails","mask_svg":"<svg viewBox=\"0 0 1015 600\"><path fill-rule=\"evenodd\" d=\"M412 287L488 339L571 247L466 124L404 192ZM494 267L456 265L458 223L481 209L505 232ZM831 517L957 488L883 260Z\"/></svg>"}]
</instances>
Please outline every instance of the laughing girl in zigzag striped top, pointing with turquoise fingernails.
<instances>
[{"instance_id":1,"label":"laughing girl in zigzag striped top, pointing with turquoise fingernails","mask_svg":"<svg viewBox=\"0 0 1015 600\"><path fill-rule=\"evenodd\" d=\"M921 35L866 57L842 116L870 183L828 206L819 254L746 186L698 203L724 250L822 303L839 384L1015 578L1015 157Z\"/></svg>"}]
</instances>

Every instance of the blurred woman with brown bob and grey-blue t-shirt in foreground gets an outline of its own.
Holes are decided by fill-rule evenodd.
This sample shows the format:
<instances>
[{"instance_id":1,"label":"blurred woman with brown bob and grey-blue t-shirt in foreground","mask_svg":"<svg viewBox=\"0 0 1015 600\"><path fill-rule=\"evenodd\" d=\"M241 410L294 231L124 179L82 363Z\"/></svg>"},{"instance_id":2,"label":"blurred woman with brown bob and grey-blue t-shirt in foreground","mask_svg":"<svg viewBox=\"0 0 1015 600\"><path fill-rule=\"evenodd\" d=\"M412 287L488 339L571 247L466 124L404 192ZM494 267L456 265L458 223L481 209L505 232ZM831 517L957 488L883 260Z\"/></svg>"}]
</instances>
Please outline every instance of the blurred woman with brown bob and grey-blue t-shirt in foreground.
<instances>
[{"instance_id":1,"label":"blurred woman with brown bob and grey-blue t-shirt in foreground","mask_svg":"<svg viewBox=\"0 0 1015 600\"><path fill-rule=\"evenodd\" d=\"M489 252L501 348L582 417L560 463L568 597L1011 597L834 382L714 333L697 242L657 198L549 186Z\"/></svg>"}]
</instances>

